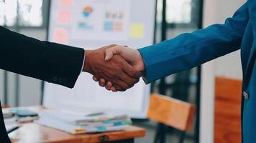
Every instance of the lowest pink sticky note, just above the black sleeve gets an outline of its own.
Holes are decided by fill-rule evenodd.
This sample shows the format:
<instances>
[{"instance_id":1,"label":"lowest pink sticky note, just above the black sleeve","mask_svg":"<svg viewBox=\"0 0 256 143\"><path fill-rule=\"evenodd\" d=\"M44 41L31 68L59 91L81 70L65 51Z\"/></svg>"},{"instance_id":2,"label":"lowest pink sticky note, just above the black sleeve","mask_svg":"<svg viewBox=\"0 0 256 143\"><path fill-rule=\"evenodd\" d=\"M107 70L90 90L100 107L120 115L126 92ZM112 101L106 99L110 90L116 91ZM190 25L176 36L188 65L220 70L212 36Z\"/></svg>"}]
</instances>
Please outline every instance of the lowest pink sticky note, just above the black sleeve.
<instances>
[{"instance_id":1,"label":"lowest pink sticky note, just above the black sleeve","mask_svg":"<svg viewBox=\"0 0 256 143\"><path fill-rule=\"evenodd\" d=\"M66 29L55 29L52 41L60 44L68 44L69 33Z\"/></svg>"}]
</instances>

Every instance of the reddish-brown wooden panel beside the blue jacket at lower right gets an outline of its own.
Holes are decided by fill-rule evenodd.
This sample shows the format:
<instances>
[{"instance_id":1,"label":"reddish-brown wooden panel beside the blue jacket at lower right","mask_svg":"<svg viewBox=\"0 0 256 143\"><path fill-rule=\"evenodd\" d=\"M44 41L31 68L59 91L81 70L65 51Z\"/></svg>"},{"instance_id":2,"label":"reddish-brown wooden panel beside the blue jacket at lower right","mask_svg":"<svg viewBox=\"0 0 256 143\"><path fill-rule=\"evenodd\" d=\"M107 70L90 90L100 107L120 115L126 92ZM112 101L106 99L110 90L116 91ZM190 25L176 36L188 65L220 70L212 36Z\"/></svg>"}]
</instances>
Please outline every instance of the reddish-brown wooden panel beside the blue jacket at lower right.
<instances>
[{"instance_id":1,"label":"reddish-brown wooden panel beside the blue jacket at lower right","mask_svg":"<svg viewBox=\"0 0 256 143\"><path fill-rule=\"evenodd\" d=\"M216 77L214 142L240 143L242 80Z\"/></svg>"}]
</instances>

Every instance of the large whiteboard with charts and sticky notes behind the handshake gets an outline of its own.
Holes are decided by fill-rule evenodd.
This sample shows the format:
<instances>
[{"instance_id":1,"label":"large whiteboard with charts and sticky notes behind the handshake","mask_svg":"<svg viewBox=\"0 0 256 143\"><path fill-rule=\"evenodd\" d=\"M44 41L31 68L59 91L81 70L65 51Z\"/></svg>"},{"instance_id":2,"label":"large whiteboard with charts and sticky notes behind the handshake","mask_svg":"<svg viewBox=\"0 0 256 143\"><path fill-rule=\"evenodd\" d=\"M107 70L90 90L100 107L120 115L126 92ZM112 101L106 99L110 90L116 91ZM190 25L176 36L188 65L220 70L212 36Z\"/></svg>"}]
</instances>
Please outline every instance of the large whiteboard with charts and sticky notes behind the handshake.
<instances>
[{"instance_id":1,"label":"large whiteboard with charts and sticky notes behind the handshake","mask_svg":"<svg viewBox=\"0 0 256 143\"><path fill-rule=\"evenodd\" d=\"M109 44L134 49L153 43L155 0L58 0L51 1L48 40L97 49ZM140 79L126 92L109 92L81 73L73 89L45 82L43 105L83 112L111 109L133 118L145 118L150 85Z\"/></svg>"}]
</instances>

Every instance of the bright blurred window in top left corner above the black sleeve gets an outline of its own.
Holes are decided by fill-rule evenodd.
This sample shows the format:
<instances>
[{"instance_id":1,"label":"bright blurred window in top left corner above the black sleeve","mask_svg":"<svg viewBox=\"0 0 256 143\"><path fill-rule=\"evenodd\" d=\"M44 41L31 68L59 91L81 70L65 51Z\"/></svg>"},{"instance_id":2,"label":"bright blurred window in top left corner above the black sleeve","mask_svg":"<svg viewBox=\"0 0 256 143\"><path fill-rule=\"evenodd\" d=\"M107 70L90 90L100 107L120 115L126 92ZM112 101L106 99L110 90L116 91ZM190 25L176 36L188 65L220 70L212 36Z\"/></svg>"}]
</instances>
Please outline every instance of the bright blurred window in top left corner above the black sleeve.
<instances>
[{"instance_id":1,"label":"bright blurred window in top left corner above the black sleeve","mask_svg":"<svg viewBox=\"0 0 256 143\"><path fill-rule=\"evenodd\" d=\"M43 0L0 0L0 24L3 26L42 27L46 26L48 1ZM45 11L47 12L47 11Z\"/></svg>"}]
</instances>

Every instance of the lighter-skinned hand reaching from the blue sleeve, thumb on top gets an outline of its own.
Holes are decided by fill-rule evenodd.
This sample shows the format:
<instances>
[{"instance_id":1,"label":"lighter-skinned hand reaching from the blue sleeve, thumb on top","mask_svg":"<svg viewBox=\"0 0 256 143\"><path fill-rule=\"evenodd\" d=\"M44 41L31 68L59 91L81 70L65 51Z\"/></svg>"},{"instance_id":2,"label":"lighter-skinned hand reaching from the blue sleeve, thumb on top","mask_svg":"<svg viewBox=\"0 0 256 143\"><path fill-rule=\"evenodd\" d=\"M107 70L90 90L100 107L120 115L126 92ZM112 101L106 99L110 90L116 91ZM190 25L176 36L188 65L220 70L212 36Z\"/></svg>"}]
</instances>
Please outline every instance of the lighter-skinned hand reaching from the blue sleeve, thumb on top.
<instances>
[{"instance_id":1,"label":"lighter-skinned hand reaching from the blue sleeve, thumb on top","mask_svg":"<svg viewBox=\"0 0 256 143\"><path fill-rule=\"evenodd\" d=\"M122 58L124 58L129 64L131 64L131 66L136 70L136 71L144 71L145 70L145 66L144 66L144 62L142 59L142 56L140 55L140 51L135 50L135 49L130 49L126 46L113 46L109 49L106 49L105 51L106 56L105 56L105 60L109 61L110 59L112 59L114 57L115 54L122 56ZM111 90L113 92L116 92L118 89L115 88L115 86L113 86L113 83L107 79L101 78L100 80L98 80L99 78L97 77L93 77L93 80L98 82L101 86L105 86L106 89Z\"/></svg>"}]
</instances>

